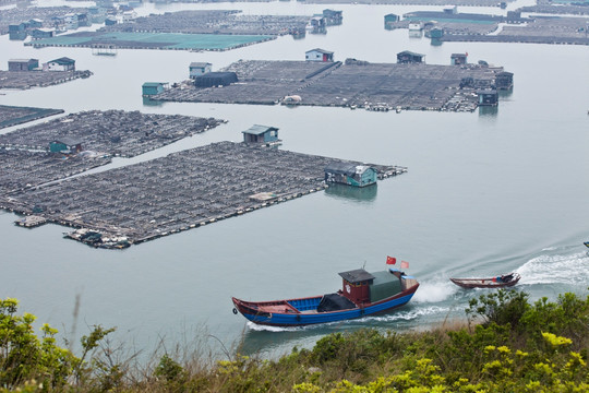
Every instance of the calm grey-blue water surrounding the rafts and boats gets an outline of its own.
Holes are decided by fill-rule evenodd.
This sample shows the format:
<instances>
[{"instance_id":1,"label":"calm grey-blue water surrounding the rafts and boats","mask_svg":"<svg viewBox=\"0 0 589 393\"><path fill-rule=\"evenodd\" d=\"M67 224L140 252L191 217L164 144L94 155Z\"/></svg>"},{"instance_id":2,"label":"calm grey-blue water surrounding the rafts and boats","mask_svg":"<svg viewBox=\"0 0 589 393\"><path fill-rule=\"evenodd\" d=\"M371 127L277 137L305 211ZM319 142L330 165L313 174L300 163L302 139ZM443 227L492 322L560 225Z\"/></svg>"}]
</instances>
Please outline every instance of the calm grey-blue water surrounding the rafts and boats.
<instances>
[{"instance_id":1,"label":"calm grey-blue water surrounding the rafts and boats","mask_svg":"<svg viewBox=\"0 0 589 393\"><path fill-rule=\"evenodd\" d=\"M58 2L56 2L57 4ZM297 2L145 4L140 14L180 9L242 9L251 14L313 14L324 5ZM0 212L0 297L79 336L89 325L117 326L117 340L151 352L196 340L216 354L231 348L275 356L322 335L359 327L407 331L464 319L468 299L449 276L517 271L532 299L574 291L587 295L589 257L589 49L577 46L445 43L431 46L407 31L383 28L384 15L419 7L333 5L344 25L326 35L273 41L226 52L119 50L93 56L84 48L24 47L0 37L0 67L8 59L68 56L87 80L29 91L2 91L0 104L124 109L227 119L205 134L111 167L170 152L241 138L253 123L275 126L281 148L407 166L409 172L370 190L334 188L239 218L219 222L123 251L95 250L62 239L67 228L33 230ZM513 5L510 5L513 8ZM462 12L502 13L498 9ZM145 106L146 81L176 82L191 61L215 69L239 59L302 60L312 48L336 60L394 62L396 53L425 53L449 64L453 52L504 66L515 88L496 109L472 114L369 112L341 108L285 108L218 104ZM4 129L0 132L9 132ZM421 287L398 312L305 329L261 329L231 312L231 296L251 300L311 296L340 287L338 272L365 264L385 269L386 255L409 261ZM79 317L73 317L76 296Z\"/></svg>"}]
</instances>

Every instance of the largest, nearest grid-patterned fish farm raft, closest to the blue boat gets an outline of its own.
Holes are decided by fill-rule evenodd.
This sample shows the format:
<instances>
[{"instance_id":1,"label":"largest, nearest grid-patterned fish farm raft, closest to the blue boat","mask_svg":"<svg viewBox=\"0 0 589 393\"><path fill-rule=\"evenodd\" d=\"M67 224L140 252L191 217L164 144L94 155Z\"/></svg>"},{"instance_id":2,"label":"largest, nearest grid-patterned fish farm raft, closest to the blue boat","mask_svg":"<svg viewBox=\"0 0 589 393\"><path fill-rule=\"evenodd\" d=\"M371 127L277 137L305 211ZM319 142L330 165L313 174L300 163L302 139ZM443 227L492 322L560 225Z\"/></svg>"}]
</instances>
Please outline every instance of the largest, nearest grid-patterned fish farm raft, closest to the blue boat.
<instances>
[{"instance_id":1,"label":"largest, nearest grid-patterned fish farm raft, closest to the blue boat","mask_svg":"<svg viewBox=\"0 0 589 393\"><path fill-rule=\"evenodd\" d=\"M352 163L220 142L0 196L0 206L76 228L67 236L124 248L323 190L327 165ZM378 178L407 169L371 165ZM374 187L374 186L371 186Z\"/></svg>"}]
</instances>

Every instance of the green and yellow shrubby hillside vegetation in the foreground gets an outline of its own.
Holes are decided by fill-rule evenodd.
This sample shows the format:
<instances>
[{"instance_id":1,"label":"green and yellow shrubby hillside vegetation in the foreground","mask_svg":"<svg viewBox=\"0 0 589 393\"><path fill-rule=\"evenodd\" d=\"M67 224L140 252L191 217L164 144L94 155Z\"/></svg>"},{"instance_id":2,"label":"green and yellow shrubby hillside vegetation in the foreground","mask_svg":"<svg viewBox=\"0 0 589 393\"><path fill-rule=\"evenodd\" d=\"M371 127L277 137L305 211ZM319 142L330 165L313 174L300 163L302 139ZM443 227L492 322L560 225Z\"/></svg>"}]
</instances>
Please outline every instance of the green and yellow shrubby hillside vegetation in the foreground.
<instances>
[{"instance_id":1,"label":"green and yellow shrubby hillside vegetation in the foreground","mask_svg":"<svg viewBox=\"0 0 589 393\"><path fill-rule=\"evenodd\" d=\"M0 392L589 392L589 297L528 298L482 295L456 329L335 333L277 360L237 353L205 365L164 354L142 370L110 348L113 329L94 326L75 355L48 325L37 336L35 317L9 298L0 300Z\"/></svg>"}]
</instances>

